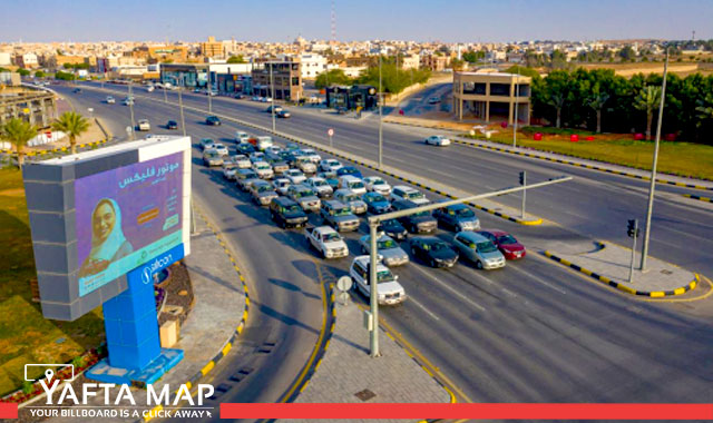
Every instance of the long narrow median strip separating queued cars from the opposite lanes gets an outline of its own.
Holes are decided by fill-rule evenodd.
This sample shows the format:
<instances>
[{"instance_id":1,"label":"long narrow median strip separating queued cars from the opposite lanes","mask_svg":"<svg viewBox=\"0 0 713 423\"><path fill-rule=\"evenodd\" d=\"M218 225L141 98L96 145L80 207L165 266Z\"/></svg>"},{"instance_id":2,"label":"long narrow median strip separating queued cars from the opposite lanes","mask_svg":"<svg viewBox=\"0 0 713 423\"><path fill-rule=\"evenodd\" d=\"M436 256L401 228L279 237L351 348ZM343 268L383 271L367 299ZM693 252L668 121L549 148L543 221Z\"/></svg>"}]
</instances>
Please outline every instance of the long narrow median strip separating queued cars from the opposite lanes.
<instances>
[{"instance_id":1,"label":"long narrow median strip separating queued cars from the opposite lanes","mask_svg":"<svg viewBox=\"0 0 713 423\"><path fill-rule=\"evenodd\" d=\"M113 90L110 90L110 91L113 91ZM148 99L148 100L150 100L150 101L158 101L158 102L163 102L163 101L160 101L160 100L156 100L156 99L154 99L154 98L146 97L146 96L137 96L137 97L147 98L147 99ZM196 108L196 107L192 107L192 106L184 106L184 109L194 110L194 111L198 111L198 112L205 112L205 110L202 110L202 109L198 109L198 108ZM321 145L319 145L319 144L312 145L312 144L310 144L310 142L305 142L303 139L300 139L300 138L293 137L293 136L291 136L291 135L289 135L289 134L281 134L281 132L272 131L272 129L270 129L270 128L264 128L264 127L261 127L261 126L258 126L258 125L251 124L251 122L246 122L246 121L243 121L243 120L240 120L240 119L236 119L236 118L233 118L233 117L231 117L231 116L223 115L223 114L214 114L214 115L216 115L216 116L218 116L218 117L221 117L221 118L223 118L223 119L226 119L226 120L231 120L231 121L237 122L238 125L242 125L242 126L245 126L245 127L248 127L248 128L257 129L257 130L261 130L261 131L264 131L264 132L267 132L267 134L273 134L273 135L275 135L275 136L277 136L277 137L280 137L280 138L284 138L284 139L287 139L287 140L290 140L290 141L296 142L296 144L301 144L301 145L309 146L310 148L312 148L312 149L314 149L314 150L322 151L322 153L326 153L326 154L332 155L332 156L334 156L334 157L339 157L339 158L340 158L340 159L342 159L342 160L351 161L351 163L353 163L353 164L355 164L355 165L363 166L363 167L365 167L365 168L368 168L368 169L371 169L371 170L374 170L374 171L379 171L379 173L381 173L381 174L384 174L384 175L391 176L392 178L395 178L395 179L402 180L402 181L408 183L408 184L416 185L417 187L422 188L422 189L426 189L426 190L428 190L428 191L431 191L431 193L434 193L434 194L438 194L438 195L442 195L442 196L448 197L448 198L451 198L451 199L456 199L456 198L458 198L458 197L456 197L456 196L453 196L453 195L450 195L450 194L447 194L447 193L445 193L445 191L441 191L440 189L434 189L434 188L431 188L431 187L426 186L426 185L423 185L423 184L416 183L416 181L413 181L413 180L411 180L411 179L408 179L408 178L401 177L401 176L399 176L399 175L395 175L395 174L393 174L393 173L390 173L390 171L387 171L387 170L381 170L381 169L379 169L377 166L368 165L368 164L365 164L365 163L363 163L363 161L361 161L361 160L358 160L358 159L353 159L353 158L346 157L346 156L344 156L344 155L342 155L342 154L339 154L339 153L330 151L330 150L328 150L325 147L322 147L322 146L321 146ZM484 207L484 206L478 206L478 205L476 205L476 204L473 204L473 203L468 203L468 205L469 205L469 206L472 206L472 207L476 207L476 208L477 208L477 209L479 209L479 210L487 212L487 213L489 213L489 214L491 214L491 215L495 215L495 216L501 217L501 218L504 218L504 219L506 219L506 220L514 222L514 223L516 223L516 224L526 225L526 226L541 225L541 224L543 224L543 219L541 219L541 218L537 218L537 219L535 219L535 220L524 220L524 219L520 219L520 218L517 218L517 217L511 217L511 216L509 216L509 215L506 215L506 214L504 214L504 213L500 213L500 212L497 212L497 210L494 210L494 209L490 209L490 208L487 208L487 207Z\"/></svg>"}]
</instances>

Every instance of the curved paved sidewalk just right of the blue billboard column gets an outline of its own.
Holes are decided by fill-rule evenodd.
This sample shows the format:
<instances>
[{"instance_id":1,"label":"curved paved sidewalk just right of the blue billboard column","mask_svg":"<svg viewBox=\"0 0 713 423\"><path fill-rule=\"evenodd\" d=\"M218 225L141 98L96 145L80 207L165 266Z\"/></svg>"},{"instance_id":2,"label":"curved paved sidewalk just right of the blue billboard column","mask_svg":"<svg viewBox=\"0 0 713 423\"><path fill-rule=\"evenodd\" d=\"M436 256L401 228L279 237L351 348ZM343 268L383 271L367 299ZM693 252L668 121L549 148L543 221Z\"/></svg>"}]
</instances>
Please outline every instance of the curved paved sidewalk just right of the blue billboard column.
<instances>
[{"instance_id":1,"label":"curved paved sidewalk just right of the blue billboard column","mask_svg":"<svg viewBox=\"0 0 713 423\"><path fill-rule=\"evenodd\" d=\"M219 240L207 226L206 222L196 214L197 234L191 238L191 255L185 258L191 274L195 306L180 327L179 341L173 348L184 351L184 358L164 377L154 384L156 392L160 392L165 384L170 385L173 393L180 384L194 381L206 370L206 365L215 362L214 357L225 347L236 333L236 327L243 318L245 295L240 276L231 259L221 246ZM226 313L226 311L234 311ZM212 367L212 366L209 366ZM144 390L131 387L131 394L140 404L146 393ZM55 401L58 394L55 394ZM104 397L91 399L89 406L101 406ZM32 405L41 405L40 401ZM28 407L31 407L29 405ZM29 414L29 411L26 410ZM22 413L22 409L21 409ZM217 410L214 411L217 415ZM68 423L76 417L53 417L52 423ZM102 419L102 422L135 422L136 419Z\"/></svg>"}]
</instances>

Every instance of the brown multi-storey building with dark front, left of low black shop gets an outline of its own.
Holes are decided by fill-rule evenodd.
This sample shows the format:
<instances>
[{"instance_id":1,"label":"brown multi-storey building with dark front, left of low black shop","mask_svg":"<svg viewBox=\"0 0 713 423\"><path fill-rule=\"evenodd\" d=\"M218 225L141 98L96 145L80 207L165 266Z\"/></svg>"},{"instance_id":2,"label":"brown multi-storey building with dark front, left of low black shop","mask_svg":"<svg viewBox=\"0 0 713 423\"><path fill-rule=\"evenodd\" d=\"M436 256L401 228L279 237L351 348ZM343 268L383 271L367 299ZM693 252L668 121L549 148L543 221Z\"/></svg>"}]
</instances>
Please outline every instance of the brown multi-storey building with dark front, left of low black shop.
<instances>
[{"instance_id":1,"label":"brown multi-storey building with dark front, left of low black shop","mask_svg":"<svg viewBox=\"0 0 713 423\"><path fill-rule=\"evenodd\" d=\"M300 101L303 97L300 65L299 61L256 63L252 71L253 92L261 97L273 97L274 92L276 100Z\"/></svg>"}]
</instances>

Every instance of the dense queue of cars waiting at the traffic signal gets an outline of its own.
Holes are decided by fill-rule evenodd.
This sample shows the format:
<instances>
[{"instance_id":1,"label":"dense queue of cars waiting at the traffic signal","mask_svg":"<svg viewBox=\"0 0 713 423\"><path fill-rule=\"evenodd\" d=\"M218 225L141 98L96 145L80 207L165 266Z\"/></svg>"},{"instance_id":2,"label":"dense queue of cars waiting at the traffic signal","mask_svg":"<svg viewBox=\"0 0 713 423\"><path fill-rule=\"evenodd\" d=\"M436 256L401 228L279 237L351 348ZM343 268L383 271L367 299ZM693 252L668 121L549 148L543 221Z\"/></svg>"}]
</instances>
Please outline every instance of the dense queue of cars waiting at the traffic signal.
<instances>
[{"instance_id":1,"label":"dense queue of cars waiting at the traffic signal","mask_svg":"<svg viewBox=\"0 0 713 423\"><path fill-rule=\"evenodd\" d=\"M251 137L243 131L237 131L235 139L237 154L233 156L226 146L202 139L205 165L222 166L225 179L248 193L256 205L266 206L277 226L305 227L310 247L324 258L349 255L341 233L359 230L359 215L382 215L431 204L416 188L391 187L380 176L363 177L355 167L322 159L312 149L296 145L280 148L271 137ZM321 226L309 226L310 213L319 216ZM455 233L450 243L432 235L438 227ZM463 204L384 220L378 228L375 244L381 304L398 304L407 298L390 267L406 265L411 259L434 268L450 268L459 260L468 260L478 269L496 269L505 267L508 259L526 256L525 246L512 235L481 230L475 212ZM364 255L353 259L350 277L358 291L369 295L370 235L361 236L358 245Z\"/></svg>"}]
</instances>

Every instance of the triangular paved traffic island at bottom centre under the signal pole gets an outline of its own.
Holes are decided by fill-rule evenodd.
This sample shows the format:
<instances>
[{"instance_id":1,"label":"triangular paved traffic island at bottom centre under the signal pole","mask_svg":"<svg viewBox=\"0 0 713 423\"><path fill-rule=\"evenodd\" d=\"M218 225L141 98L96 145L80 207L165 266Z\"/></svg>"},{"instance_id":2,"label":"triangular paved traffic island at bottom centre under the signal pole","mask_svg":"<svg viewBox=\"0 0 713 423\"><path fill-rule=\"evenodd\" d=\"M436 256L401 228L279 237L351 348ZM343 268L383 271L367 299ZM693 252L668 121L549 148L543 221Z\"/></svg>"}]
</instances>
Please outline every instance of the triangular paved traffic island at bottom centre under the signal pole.
<instances>
[{"instance_id":1,"label":"triangular paved traffic island at bottom centre under the signal pole","mask_svg":"<svg viewBox=\"0 0 713 423\"><path fill-rule=\"evenodd\" d=\"M369 356L369 333L362 312L350 298L338 298L336 327L319 371L296 403L448 403L450 394L413 361L395 341L381 331L382 356ZM363 400L356 395L362 396ZM329 420L361 422L360 420ZM280 422L326 422L326 420L280 420ZM380 420L402 422L402 420Z\"/></svg>"}]
</instances>

